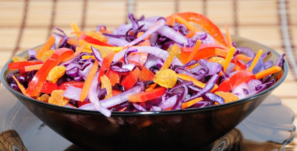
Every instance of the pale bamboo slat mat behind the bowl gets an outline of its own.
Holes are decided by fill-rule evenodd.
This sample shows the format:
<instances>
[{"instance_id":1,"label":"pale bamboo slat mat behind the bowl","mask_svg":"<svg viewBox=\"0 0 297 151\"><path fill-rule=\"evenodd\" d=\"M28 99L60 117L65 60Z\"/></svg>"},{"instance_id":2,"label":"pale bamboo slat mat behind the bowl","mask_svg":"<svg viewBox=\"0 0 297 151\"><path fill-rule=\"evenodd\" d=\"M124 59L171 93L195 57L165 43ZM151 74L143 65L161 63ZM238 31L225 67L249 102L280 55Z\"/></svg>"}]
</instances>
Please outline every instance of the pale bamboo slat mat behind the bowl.
<instances>
[{"instance_id":1,"label":"pale bamboo slat mat behind the bowl","mask_svg":"<svg viewBox=\"0 0 297 151\"><path fill-rule=\"evenodd\" d=\"M272 94L297 113L295 8L297 1L294 0L2 0L0 69L15 54L44 43L54 27L70 35L72 22L76 22L81 30L93 30L96 25L102 24L111 30L127 21L128 12L138 18L141 15L169 16L176 12L191 11L209 17L222 32L225 32L227 24L233 35L253 39L279 53L286 53L289 74ZM286 145L285 150L297 150L297 140Z\"/></svg>"}]
</instances>

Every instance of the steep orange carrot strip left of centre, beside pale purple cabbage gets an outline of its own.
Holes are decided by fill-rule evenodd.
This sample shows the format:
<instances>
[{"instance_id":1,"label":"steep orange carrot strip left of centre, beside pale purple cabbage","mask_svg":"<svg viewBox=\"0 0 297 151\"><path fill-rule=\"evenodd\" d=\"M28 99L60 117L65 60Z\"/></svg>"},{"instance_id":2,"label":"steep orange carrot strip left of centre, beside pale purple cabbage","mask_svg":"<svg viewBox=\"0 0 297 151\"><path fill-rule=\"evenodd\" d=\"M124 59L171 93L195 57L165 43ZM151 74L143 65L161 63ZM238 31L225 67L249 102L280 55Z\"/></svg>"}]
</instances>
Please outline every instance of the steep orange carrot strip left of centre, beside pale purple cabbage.
<instances>
[{"instance_id":1,"label":"steep orange carrot strip left of centre, beside pale purple cabbage","mask_svg":"<svg viewBox=\"0 0 297 151\"><path fill-rule=\"evenodd\" d=\"M99 65L99 62L97 60L95 60L87 77L86 77L86 80L84 81L84 84L83 84L83 87L82 87L82 90L80 93L80 97L79 97L79 100L81 102L83 102L88 95L92 80L97 72L98 65Z\"/></svg>"}]
</instances>

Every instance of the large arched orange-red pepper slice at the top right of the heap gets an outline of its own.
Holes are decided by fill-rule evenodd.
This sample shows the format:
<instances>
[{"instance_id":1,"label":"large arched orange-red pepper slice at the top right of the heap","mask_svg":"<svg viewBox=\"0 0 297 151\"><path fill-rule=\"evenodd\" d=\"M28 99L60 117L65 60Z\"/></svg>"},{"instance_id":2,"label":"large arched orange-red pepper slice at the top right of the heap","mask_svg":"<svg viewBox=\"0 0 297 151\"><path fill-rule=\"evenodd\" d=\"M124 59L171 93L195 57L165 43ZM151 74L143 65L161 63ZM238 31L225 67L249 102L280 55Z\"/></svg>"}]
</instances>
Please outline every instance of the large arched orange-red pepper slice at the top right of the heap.
<instances>
[{"instance_id":1,"label":"large arched orange-red pepper slice at the top right of the heap","mask_svg":"<svg viewBox=\"0 0 297 151\"><path fill-rule=\"evenodd\" d=\"M206 16L198 13L192 13L192 12L177 13L176 15L184 18L187 21L191 21L200 25L218 42L227 46L226 38L222 34L219 27L216 24L214 24L210 19L208 19ZM169 19L169 17L167 19Z\"/></svg>"}]
</instances>

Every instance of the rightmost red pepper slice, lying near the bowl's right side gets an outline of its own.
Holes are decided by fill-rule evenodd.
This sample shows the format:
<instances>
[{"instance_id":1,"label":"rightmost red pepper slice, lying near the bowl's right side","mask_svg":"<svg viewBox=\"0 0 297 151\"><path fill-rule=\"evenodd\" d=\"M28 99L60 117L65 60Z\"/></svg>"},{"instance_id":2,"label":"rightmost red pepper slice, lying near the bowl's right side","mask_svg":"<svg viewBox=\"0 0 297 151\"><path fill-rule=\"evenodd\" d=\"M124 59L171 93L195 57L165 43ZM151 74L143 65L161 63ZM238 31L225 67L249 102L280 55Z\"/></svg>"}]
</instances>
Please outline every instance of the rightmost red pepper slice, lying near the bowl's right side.
<instances>
[{"instance_id":1,"label":"rightmost red pepper slice, lying near the bowl's right side","mask_svg":"<svg viewBox=\"0 0 297 151\"><path fill-rule=\"evenodd\" d=\"M241 70L233 74L230 78L226 79L224 82L222 82L218 86L218 89L215 91L228 92L234 86L238 86L241 83L248 82L251 79L256 79L255 74L253 74L249 70Z\"/></svg>"}]
</instances>

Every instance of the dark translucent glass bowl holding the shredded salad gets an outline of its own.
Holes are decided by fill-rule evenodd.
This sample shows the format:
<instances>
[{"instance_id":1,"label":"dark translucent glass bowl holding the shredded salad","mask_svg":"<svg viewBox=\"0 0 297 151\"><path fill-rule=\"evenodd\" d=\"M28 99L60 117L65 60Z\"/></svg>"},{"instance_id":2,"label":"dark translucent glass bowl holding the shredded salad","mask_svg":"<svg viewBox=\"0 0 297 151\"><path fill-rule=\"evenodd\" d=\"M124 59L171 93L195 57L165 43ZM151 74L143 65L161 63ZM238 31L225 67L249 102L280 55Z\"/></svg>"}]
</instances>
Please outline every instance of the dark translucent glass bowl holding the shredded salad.
<instances>
[{"instance_id":1,"label":"dark translucent glass bowl holding the shredded salad","mask_svg":"<svg viewBox=\"0 0 297 151\"><path fill-rule=\"evenodd\" d=\"M275 62L280 56L257 42L237 36L232 36L232 40L237 47L271 51L268 60ZM25 56L27 52L20 55ZM96 150L207 149L252 113L285 80L289 69L284 60L282 71L271 78L277 80L273 86L235 102L174 111L112 112L108 118L96 111L43 103L13 90L6 82L11 72L7 69L8 63L1 71L6 89L58 134L74 144Z\"/></svg>"}]
</instances>

